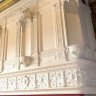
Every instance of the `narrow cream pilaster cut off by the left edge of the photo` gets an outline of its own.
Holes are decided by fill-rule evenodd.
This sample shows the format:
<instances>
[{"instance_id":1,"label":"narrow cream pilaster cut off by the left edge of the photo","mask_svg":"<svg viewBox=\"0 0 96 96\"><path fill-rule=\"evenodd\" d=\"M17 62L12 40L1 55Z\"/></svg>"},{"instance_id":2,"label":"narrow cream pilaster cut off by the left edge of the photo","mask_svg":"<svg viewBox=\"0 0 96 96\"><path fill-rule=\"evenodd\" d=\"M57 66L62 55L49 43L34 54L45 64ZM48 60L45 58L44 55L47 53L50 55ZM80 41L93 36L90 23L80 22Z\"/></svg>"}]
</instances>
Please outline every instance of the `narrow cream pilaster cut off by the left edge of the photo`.
<instances>
[{"instance_id":1,"label":"narrow cream pilaster cut off by the left edge of the photo","mask_svg":"<svg viewBox=\"0 0 96 96\"><path fill-rule=\"evenodd\" d=\"M0 28L0 72L4 70L4 62L7 58L8 30L6 24L7 22L5 19L5 25Z\"/></svg>"}]
</instances>

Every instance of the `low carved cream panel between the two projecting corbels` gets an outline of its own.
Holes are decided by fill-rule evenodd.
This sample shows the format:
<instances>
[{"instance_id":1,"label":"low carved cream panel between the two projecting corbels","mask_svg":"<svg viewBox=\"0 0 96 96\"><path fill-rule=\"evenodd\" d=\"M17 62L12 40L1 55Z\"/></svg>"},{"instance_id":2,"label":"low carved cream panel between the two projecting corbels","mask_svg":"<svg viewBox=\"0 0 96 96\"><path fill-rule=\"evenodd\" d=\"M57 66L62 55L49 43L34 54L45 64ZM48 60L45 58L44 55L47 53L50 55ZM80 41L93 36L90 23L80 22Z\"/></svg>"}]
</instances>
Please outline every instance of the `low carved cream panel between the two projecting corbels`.
<instances>
[{"instance_id":1,"label":"low carved cream panel between the two projecting corbels","mask_svg":"<svg viewBox=\"0 0 96 96\"><path fill-rule=\"evenodd\" d=\"M65 62L65 49L57 49L55 51L53 50L49 50L49 51L45 51L43 53L40 54L40 63L42 64L49 64L49 63L61 63L61 62Z\"/></svg>"}]
</instances>

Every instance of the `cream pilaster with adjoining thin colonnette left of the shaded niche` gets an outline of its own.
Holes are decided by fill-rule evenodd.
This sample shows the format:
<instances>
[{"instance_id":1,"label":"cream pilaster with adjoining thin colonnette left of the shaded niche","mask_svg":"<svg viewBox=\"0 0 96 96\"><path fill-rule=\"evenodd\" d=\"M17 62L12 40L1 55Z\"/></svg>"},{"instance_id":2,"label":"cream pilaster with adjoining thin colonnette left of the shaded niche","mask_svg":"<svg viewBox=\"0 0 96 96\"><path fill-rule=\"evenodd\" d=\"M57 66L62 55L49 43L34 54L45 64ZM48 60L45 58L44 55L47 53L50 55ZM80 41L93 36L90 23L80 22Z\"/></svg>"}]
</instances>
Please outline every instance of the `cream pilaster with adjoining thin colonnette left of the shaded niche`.
<instances>
[{"instance_id":1,"label":"cream pilaster with adjoining thin colonnette left of the shaded niche","mask_svg":"<svg viewBox=\"0 0 96 96\"><path fill-rule=\"evenodd\" d=\"M66 16L64 9L63 0L58 0L54 5L55 8L55 18L56 18L56 32L57 32L57 47L64 48L65 59L67 60L67 50L68 39L67 39L67 28L66 28Z\"/></svg>"}]
</instances>

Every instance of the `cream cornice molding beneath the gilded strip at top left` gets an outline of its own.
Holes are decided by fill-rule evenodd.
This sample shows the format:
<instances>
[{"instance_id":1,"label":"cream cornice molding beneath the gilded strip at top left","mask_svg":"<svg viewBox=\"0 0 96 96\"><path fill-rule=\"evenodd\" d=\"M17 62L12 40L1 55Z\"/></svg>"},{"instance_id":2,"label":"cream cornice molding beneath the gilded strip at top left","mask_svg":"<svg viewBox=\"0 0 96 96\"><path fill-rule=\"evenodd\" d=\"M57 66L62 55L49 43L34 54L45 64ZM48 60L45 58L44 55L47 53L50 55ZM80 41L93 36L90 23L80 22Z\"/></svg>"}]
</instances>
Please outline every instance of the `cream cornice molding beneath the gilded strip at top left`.
<instances>
[{"instance_id":1,"label":"cream cornice molding beneath the gilded strip at top left","mask_svg":"<svg viewBox=\"0 0 96 96\"><path fill-rule=\"evenodd\" d=\"M30 7L32 7L32 5L34 5L34 3L36 4L36 2L37 2L37 0L20 0L19 2L17 2L13 6L11 6L11 7L7 8L6 10L2 11L0 13L0 19L6 18L11 13L14 13L18 10L23 11L27 8L30 8Z\"/></svg>"}]
</instances>

